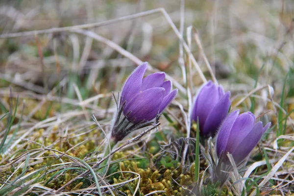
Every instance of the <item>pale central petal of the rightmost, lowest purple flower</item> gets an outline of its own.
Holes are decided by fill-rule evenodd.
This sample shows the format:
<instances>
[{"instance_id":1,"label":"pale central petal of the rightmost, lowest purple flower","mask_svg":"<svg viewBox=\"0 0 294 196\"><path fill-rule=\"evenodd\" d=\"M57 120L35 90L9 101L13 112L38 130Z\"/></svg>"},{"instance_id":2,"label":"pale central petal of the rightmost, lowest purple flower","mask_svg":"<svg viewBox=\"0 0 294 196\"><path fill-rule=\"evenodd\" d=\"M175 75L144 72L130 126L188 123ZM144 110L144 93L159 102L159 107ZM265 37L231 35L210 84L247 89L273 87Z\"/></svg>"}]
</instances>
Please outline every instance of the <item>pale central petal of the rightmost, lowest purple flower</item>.
<instances>
[{"instance_id":1,"label":"pale central petal of the rightmost, lowest purple flower","mask_svg":"<svg viewBox=\"0 0 294 196\"><path fill-rule=\"evenodd\" d=\"M251 115L252 113L243 113L238 116L236 119L229 139L227 143L226 150L232 153L236 147L243 141L243 139L248 135L251 134L250 131L254 126L255 118Z\"/></svg>"}]
</instances>

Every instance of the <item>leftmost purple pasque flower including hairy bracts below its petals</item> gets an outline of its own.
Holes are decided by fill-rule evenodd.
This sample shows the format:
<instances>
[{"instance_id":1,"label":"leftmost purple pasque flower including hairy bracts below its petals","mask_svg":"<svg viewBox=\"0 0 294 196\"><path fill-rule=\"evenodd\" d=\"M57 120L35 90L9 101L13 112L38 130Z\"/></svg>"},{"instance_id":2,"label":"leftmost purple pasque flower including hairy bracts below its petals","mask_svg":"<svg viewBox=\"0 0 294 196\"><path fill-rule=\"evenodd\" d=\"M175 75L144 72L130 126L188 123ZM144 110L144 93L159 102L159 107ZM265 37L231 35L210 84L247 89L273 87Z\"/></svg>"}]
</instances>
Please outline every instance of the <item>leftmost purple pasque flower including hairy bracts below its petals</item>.
<instances>
[{"instance_id":1,"label":"leftmost purple pasque flower including hairy bracts below its petals","mask_svg":"<svg viewBox=\"0 0 294 196\"><path fill-rule=\"evenodd\" d=\"M119 142L133 130L152 125L151 122L171 103L177 94L172 82L165 80L165 73L153 73L143 78L147 62L138 66L127 78L115 122L111 140Z\"/></svg>"}]
</instances>

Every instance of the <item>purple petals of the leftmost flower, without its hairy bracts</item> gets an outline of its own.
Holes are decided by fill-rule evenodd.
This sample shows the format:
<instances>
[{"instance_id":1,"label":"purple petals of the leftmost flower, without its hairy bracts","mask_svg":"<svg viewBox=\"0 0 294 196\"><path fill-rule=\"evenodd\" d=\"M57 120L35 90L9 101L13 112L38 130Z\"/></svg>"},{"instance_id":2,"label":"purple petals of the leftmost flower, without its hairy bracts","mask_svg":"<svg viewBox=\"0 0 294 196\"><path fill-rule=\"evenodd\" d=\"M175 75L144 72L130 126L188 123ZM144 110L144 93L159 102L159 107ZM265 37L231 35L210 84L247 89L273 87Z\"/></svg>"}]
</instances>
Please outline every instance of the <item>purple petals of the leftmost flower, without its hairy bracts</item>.
<instances>
[{"instance_id":1,"label":"purple petals of the leftmost flower, without its hairy bracts","mask_svg":"<svg viewBox=\"0 0 294 196\"><path fill-rule=\"evenodd\" d=\"M122 91L123 114L132 123L147 122L160 114L177 94L165 73L153 73L143 79L147 63L143 63L126 80Z\"/></svg>"}]
</instances>

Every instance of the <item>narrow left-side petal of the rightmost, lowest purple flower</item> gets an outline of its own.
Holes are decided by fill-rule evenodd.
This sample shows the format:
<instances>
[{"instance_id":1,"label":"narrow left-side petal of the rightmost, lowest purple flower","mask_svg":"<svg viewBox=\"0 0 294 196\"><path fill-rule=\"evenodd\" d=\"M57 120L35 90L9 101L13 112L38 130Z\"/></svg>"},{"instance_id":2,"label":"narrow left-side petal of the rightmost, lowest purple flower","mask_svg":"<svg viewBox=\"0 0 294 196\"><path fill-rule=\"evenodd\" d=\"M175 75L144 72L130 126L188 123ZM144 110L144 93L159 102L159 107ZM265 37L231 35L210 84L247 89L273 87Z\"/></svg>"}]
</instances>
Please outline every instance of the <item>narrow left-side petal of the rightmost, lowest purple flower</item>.
<instances>
[{"instance_id":1,"label":"narrow left-side petal of the rightmost, lowest purple flower","mask_svg":"<svg viewBox=\"0 0 294 196\"><path fill-rule=\"evenodd\" d=\"M217 137L217 154L219 157L222 151L223 153L227 153L226 151L227 142L231 133L231 129L238 115L239 115L239 110L235 110L234 112L231 112L221 123L221 128L218 132L218 137Z\"/></svg>"}]
</instances>

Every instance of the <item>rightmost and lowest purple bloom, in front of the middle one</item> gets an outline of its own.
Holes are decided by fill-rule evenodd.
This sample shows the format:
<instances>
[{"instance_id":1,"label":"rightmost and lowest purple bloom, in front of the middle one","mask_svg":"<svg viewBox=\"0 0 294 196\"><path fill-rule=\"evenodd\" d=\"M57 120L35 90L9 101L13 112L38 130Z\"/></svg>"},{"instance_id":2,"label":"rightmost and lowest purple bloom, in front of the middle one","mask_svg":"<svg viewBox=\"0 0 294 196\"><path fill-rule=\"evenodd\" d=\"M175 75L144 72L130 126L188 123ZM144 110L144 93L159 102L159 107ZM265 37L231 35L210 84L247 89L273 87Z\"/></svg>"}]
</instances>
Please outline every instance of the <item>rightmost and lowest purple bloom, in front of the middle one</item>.
<instances>
[{"instance_id":1,"label":"rightmost and lowest purple bloom, in front of the middle one","mask_svg":"<svg viewBox=\"0 0 294 196\"><path fill-rule=\"evenodd\" d=\"M219 158L230 153L237 165L246 158L270 127L270 123L265 127L262 122L255 123L255 116L251 112L238 115L239 110L236 110L223 121L216 145Z\"/></svg>"}]
</instances>

